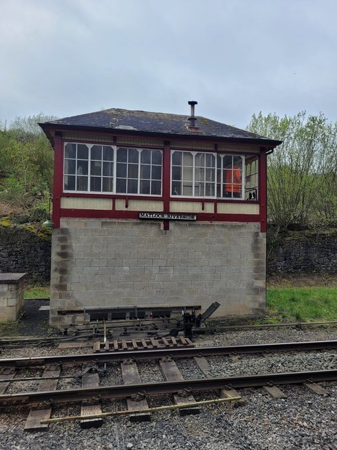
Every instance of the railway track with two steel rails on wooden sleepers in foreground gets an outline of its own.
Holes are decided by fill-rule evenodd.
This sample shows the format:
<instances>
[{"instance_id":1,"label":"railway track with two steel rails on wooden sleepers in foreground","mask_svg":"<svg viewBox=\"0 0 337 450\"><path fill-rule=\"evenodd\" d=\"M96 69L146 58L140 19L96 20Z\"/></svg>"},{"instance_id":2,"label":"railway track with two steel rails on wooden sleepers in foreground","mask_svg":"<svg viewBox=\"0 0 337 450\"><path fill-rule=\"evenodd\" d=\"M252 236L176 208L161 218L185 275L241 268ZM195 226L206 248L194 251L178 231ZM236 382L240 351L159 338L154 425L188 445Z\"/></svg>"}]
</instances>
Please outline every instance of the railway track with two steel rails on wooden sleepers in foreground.
<instances>
[{"instance_id":1,"label":"railway track with two steel rails on wooden sleepers in foreground","mask_svg":"<svg viewBox=\"0 0 337 450\"><path fill-rule=\"evenodd\" d=\"M267 345L240 345L230 347L171 347L134 351L98 352L63 356L41 356L32 358L7 358L0 360L0 407L29 406L30 415L26 429L39 430L52 421L52 406L63 403L81 403L81 426L97 426L97 420L104 416L100 400L127 399L127 411L131 420L149 420L151 409L149 396L171 394L180 414L197 414L199 405L193 394L200 391L217 391L219 399L235 402L240 396L236 389L263 387L274 396L282 392L276 385L305 384L316 393L327 393L316 383L336 381L337 369L311 370L241 376L210 376L209 356L235 356L237 354L270 354L272 352L304 352L336 350L337 341L312 341L301 343L274 343ZM202 378L184 379L175 360L193 358L195 370ZM155 361L160 367L162 381L144 383L140 378L137 363ZM120 365L122 384L100 385L106 365ZM75 366L76 374L62 376L63 369ZM17 374L23 369L43 369L42 376L30 377L39 382L39 388L32 392L9 393L8 387L23 381ZM58 382L64 378L76 378L81 386L72 389L57 389ZM26 378L27 379L27 378ZM268 390L269 389L269 390ZM112 415L112 414L110 414ZM77 417L78 418L78 417ZM61 419L59 419L61 420ZM42 421L42 422L41 422Z\"/></svg>"}]
</instances>

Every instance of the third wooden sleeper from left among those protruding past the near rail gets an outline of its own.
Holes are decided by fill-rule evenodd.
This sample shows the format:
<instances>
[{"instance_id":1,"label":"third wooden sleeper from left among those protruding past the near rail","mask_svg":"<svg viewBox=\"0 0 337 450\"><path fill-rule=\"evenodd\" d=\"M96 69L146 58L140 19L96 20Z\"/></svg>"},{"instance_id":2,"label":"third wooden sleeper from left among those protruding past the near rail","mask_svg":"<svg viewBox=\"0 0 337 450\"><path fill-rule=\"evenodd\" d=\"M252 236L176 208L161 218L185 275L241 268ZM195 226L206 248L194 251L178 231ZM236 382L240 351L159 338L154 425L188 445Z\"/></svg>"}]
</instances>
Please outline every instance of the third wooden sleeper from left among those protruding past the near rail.
<instances>
[{"instance_id":1,"label":"third wooden sleeper from left among those protruding past the near rail","mask_svg":"<svg viewBox=\"0 0 337 450\"><path fill-rule=\"evenodd\" d=\"M134 385L142 383L136 363L121 363L120 369L122 371L122 378L124 385ZM132 398L127 398L128 411L140 411L141 409L149 409L146 398L141 398L138 401ZM151 420L151 414L149 413L137 413L131 414L130 422L145 422Z\"/></svg>"}]
</instances>

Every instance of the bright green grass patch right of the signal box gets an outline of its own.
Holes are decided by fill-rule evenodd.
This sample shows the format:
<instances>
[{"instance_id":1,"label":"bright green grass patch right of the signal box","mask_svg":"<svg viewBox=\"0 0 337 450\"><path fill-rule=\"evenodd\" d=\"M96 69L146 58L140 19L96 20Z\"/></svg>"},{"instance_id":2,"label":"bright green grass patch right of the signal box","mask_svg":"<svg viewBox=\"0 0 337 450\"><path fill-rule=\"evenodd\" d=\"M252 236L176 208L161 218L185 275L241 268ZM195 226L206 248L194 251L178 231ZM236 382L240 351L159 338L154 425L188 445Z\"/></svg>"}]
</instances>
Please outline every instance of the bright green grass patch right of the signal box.
<instances>
[{"instance_id":1,"label":"bright green grass patch right of the signal box","mask_svg":"<svg viewBox=\"0 0 337 450\"><path fill-rule=\"evenodd\" d=\"M337 287L268 288L268 314L297 322L335 321Z\"/></svg>"}]
</instances>

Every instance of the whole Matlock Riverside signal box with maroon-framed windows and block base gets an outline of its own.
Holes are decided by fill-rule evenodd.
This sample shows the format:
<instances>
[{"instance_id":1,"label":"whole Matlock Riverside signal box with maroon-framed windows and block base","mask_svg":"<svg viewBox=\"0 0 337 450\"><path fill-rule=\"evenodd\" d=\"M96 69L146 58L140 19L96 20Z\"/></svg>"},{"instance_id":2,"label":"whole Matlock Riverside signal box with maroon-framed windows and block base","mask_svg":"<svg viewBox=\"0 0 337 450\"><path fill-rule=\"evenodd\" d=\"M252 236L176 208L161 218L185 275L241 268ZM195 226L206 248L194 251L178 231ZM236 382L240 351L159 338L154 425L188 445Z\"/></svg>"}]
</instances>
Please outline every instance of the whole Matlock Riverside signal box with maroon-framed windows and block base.
<instances>
[{"instance_id":1,"label":"whole Matlock Riverside signal box with maroon-framed windows and block base","mask_svg":"<svg viewBox=\"0 0 337 450\"><path fill-rule=\"evenodd\" d=\"M107 109L41 124L55 154L52 325L92 308L264 312L266 162L281 142L188 103L186 116Z\"/></svg>"}]
</instances>

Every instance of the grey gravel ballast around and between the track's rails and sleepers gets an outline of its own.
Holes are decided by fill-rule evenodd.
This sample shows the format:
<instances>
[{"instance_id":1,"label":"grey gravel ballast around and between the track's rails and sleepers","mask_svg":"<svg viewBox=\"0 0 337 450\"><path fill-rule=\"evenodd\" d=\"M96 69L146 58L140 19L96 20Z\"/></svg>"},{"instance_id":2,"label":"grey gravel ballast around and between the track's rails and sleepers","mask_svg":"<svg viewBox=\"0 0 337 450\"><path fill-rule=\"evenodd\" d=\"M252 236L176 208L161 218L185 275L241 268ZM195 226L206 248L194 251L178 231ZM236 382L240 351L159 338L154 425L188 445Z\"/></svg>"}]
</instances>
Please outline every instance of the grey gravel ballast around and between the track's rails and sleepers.
<instances>
[{"instance_id":1,"label":"grey gravel ballast around and between the track's rails and sleepers","mask_svg":"<svg viewBox=\"0 0 337 450\"><path fill-rule=\"evenodd\" d=\"M35 323L36 326L37 322ZM25 328L28 334L32 328ZM42 329L42 328L41 328ZM277 328L230 331L213 336L199 336L197 345L244 345L282 341L314 341L337 339L336 328ZM47 356L50 354L88 353L88 348L57 350L54 347L4 350L2 358L14 356ZM214 376L249 373L287 372L292 370L336 368L336 352L303 352L208 358ZM192 360L177 361L184 378L202 378ZM154 363L138 364L143 383L160 381L162 375ZM80 373L81 367L67 368L63 375ZM41 374L41 369L30 373ZM22 376L23 374L20 374ZM28 374L26 374L28 375ZM25 384L27 383L27 384ZM34 383L34 382L32 382ZM65 388L78 385L78 379L60 382ZM117 364L107 366L101 384L120 384ZM30 390L34 384L20 382L20 389ZM78 422L50 426L47 433L25 433L23 427L28 408L3 409L0 414L0 449L6 450L333 450L337 448L337 383L320 383L329 392L318 396L303 386L285 386L287 398L273 399L263 389L241 389L245 402L234 409L225 405L208 405L197 416L180 417L176 411L153 414L151 422L130 423L128 418L105 418L100 429L81 429ZM17 386L10 392L17 392ZM196 400L217 398L216 392L195 393ZM149 398L149 406L172 403L171 396ZM103 411L126 409L125 400L103 400ZM78 414L80 405L56 405L53 416ZM336 445L336 447L333 447Z\"/></svg>"}]
</instances>

